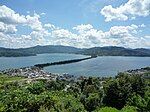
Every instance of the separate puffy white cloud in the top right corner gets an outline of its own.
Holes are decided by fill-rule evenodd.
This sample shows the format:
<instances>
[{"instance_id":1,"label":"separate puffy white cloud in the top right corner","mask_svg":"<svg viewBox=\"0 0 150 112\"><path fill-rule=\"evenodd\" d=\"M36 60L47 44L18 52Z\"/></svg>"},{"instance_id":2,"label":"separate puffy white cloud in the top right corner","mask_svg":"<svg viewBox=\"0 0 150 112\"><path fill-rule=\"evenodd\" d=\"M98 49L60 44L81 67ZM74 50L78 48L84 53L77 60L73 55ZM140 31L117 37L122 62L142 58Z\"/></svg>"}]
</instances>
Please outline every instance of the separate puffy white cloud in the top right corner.
<instances>
[{"instance_id":1,"label":"separate puffy white cloud in the top right corner","mask_svg":"<svg viewBox=\"0 0 150 112\"><path fill-rule=\"evenodd\" d=\"M135 19L136 16L146 17L150 15L150 0L129 0L119 7L105 6L101 14L106 18L105 21Z\"/></svg>"}]
</instances>

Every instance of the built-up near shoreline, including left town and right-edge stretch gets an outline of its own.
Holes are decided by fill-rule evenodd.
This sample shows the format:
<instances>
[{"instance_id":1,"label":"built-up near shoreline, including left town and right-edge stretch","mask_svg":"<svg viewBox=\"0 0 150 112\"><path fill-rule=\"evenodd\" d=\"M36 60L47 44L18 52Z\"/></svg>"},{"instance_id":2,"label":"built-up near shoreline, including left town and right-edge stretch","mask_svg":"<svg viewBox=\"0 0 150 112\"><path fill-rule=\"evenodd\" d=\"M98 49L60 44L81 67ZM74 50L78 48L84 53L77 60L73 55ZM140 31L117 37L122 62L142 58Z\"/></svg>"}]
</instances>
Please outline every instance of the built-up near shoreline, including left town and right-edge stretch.
<instances>
[{"instance_id":1,"label":"built-up near shoreline, including left town and right-edge stretch","mask_svg":"<svg viewBox=\"0 0 150 112\"><path fill-rule=\"evenodd\" d=\"M140 69L134 69L134 70L127 70L124 72L118 72L119 73L125 73L125 74L138 74L141 76L144 76L146 78L150 78L150 67L144 67ZM22 67L18 69L6 69L6 70L0 70L0 74L6 74L8 76L23 76L27 79L48 79L48 80L76 80L78 78L87 78L92 76L78 76L78 75L71 75L68 73L58 74L58 73L50 73L43 70L41 67L36 66L30 66L30 67ZM100 77L100 76L98 76ZM109 78L110 76L108 76ZM107 76L101 77L101 78L107 78Z\"/></svg>"}]
</instances>

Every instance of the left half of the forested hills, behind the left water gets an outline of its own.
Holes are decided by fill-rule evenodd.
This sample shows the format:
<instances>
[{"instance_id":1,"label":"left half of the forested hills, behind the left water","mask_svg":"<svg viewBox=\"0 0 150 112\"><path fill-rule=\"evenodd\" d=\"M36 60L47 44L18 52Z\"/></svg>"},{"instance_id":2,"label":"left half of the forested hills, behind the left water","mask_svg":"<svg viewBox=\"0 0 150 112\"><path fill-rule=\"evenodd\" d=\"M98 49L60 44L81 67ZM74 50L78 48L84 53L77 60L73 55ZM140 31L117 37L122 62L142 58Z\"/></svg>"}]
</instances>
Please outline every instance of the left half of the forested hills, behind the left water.
<instances>
[{"instance_id":1,"label":"left half of the forested hills, behind the left water","mask_svg":"<svg viewBox=\"0 0 150 112\"><path fill-rule=\"evenodd\" d=\"M36 54L43 53L77 53L82 49L61 46L61 45L47 45L47 46L35 46L29 48L9 49L0 47L0 57L19 57L19 56L35 56Z\"/></svg>"}]
</instances>

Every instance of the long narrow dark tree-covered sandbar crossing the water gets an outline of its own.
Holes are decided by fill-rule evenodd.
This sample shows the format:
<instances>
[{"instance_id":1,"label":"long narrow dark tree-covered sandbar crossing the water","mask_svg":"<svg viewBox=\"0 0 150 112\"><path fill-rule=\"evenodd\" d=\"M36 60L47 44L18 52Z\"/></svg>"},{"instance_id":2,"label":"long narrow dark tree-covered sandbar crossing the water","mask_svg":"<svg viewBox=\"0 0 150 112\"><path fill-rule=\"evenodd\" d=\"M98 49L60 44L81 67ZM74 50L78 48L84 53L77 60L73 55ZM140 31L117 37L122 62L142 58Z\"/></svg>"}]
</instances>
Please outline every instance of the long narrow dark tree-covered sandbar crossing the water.
<instances>
[{"instance_id":1,"label":"long narrow dark tree-covered sandbar crossing the water","mask_svg":"<svg viewBox=\"0 0 150 112\"><path fill-rule=\"evenodd\" d=\"M72 60L58 61L58 62L52 62L52 63L36 64L34 66L39 67L39 68L44 68L44 67L52 66L52 65L62 65L62 64L76 63L76 62L79 62L79 61L84 61L84 60L88 60L88 59L92 59L92 58L96 58L96 57L97 56L90 56L90 57L81 58L81 59L72 59Z\"/></svg>"}]
</instances>

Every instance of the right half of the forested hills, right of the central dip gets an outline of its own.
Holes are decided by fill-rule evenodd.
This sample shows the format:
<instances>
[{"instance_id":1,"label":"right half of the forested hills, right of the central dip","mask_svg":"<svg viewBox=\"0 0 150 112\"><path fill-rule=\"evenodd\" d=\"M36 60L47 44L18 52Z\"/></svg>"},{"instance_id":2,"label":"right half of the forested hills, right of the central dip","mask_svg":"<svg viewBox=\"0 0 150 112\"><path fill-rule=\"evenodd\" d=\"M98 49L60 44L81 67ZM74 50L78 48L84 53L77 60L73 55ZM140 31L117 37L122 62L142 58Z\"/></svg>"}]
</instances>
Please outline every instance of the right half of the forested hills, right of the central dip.
<instances>
[{"instance_id":1,"label":"right half of the forested hills, right of the central dip","mask_svg":"<svg viewBox=\"0 0 150 112\"><path fill-rule=\"evenodd\" d=\"M108 46L108 47L93 47L79 52L85 55L98 56L150 56L150 49L130 49L124 47Z\"/></svg>"}]
</instances>

